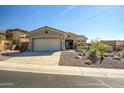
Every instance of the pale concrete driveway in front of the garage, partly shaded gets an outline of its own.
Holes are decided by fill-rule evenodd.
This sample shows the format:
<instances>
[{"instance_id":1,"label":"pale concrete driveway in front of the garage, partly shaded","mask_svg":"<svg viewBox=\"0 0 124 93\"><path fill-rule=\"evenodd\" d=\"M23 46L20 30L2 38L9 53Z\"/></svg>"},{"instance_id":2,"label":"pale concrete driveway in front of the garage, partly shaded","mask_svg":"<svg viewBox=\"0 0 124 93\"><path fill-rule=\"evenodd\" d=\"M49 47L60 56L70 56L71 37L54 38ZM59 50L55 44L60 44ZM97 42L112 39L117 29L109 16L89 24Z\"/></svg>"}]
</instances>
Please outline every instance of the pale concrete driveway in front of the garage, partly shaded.
<instances>
[{"instance_id":1,"label":"pale concrete driveway in front of the garage, partly shaded","mask_svg":"<svg viewBox=\"0 0 124 93\"><path fill-rule=\"evenodd\" d=\"M41 65L58 65L60 59L60 51L57 52L22 52L18 56L6 60L12 63L27 63Z\"/></svg>"}]
</instances>

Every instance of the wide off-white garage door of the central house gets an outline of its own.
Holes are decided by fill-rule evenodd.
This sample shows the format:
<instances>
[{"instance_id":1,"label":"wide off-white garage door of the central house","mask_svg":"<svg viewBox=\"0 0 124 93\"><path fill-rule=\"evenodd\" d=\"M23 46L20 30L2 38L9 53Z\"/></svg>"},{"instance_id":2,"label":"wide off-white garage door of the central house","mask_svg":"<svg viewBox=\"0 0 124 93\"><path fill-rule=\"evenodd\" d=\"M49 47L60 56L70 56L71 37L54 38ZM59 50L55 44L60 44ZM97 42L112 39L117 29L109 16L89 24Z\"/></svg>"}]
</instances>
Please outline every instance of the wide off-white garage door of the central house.
<instances>
[{"instance_id":1,"label":"wide off-white garage door of the central house","mask_svg":"<svg viewBox=\"0 0 124 93\"><path fill-rule=\"evenodd\" d=\"M34 51L60 50L60 39L34 39Z\"/></svg>"}]
</instances>

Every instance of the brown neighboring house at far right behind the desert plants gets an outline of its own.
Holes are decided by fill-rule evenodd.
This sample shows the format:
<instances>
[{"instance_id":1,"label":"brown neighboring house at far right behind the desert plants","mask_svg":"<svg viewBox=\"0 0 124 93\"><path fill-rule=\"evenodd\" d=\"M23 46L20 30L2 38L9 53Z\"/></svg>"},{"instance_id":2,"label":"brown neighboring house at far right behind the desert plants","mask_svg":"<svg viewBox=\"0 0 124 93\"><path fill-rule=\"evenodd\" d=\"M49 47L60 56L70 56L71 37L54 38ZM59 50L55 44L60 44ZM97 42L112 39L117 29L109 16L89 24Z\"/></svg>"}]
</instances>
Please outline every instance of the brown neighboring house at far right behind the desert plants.
<instances>
[{"instance_id":1,"label":"brown neighboring house at far right behind the desert plants","mask_svg":"<svg viewBox=\"0 0 124 93\"><path fill-rule=\"evenodd\" d=\"M124 40L101 40L108 46L112 46L114 50L122 50L124 48Z\"/></svg>"}]
</instances>

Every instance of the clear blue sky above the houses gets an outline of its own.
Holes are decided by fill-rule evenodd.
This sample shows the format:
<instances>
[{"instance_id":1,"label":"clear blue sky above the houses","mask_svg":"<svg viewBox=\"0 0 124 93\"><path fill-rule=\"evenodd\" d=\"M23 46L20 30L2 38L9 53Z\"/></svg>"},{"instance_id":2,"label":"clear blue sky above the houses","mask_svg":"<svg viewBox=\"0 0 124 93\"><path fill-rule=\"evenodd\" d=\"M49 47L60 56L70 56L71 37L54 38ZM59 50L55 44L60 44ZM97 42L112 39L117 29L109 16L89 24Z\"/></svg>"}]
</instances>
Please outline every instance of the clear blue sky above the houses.
<instances>
[{"instance_id":1,"label":"clear blue sky above the houses","mask_svg":"<svg viewBox=\"0 0 124 93\"><path fill-rule=\"evenodd\" d=\"M124 39L124 6L0 6L0 29L51 26L89 40Z\"/></svg>"}]
</instances>

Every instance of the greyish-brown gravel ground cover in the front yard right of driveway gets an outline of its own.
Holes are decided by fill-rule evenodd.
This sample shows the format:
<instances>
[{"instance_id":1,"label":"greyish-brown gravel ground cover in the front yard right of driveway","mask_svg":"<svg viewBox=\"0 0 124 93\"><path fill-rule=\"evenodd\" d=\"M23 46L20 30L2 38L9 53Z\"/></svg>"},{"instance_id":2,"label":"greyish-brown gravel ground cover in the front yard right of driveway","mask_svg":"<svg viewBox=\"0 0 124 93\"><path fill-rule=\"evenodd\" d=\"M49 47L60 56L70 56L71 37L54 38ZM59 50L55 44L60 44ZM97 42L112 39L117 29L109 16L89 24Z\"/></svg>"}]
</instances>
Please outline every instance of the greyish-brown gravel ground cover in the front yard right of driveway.
<instances>
[{"instance_id":1,"label":"greyish-brown gravel ground cover in the front yard right of driveway","mask_svg":"<svg viewBox=\"0 0 124 93\"><path fill-rule=\"evenodd\" d=\"M81 59L76 58L78 54L76 52L62 52L59 60L59 65L63 66L80 66L80 67L96 67L96 68L118 68L124 69L124 60L114 60L112 57L105 57L102 64L91 64L87 65L84 61L87 60L86 57L82 57Z\"/></svg>"}]
</instances>

